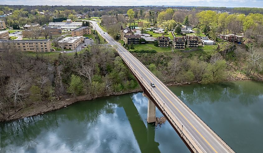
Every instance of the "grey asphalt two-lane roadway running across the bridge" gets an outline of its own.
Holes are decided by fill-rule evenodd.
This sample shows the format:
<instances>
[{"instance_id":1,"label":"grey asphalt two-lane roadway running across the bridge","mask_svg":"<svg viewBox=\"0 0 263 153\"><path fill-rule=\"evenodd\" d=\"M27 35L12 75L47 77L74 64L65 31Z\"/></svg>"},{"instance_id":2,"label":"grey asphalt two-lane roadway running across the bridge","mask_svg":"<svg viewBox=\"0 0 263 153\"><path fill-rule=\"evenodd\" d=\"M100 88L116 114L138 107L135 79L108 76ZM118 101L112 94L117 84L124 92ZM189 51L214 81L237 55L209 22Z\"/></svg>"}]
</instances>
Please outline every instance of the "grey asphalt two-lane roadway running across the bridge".
<instances>
[{"instance_id":1,"label":"grey asphalt two-lane roadway running across the bridge","mask_svg":"<svg viewBox=\"0 0 263 153\"><path fill-rule=\"evenodd\" d=\"M111 45L118 49L118 52L124 56L125 60L129 61L130 65L132 65L143 77L143 79L149 83L149 86L151 82L155 83L156 87L152 88L153 92L157 93L165 105L170 108L203 152L234 152L229 148L229 146L228 149L223 146L224 142L222 140L220 141L220 138L218 139L213 132L209 131L208 127L205 127L197 116L190 113L188 110L189 108L187 109L187 106L183 105L182 102L178 100L179 98L176 97L176 95L174 95L167 87L165 87L165 85L157 79L138 59L122 47L120 43L117 43L113 38L111 38L109 34L103 34L103 30L95 21L90 22L92 22L98 33L100 33Z\"/></svg>"}]
</instances>

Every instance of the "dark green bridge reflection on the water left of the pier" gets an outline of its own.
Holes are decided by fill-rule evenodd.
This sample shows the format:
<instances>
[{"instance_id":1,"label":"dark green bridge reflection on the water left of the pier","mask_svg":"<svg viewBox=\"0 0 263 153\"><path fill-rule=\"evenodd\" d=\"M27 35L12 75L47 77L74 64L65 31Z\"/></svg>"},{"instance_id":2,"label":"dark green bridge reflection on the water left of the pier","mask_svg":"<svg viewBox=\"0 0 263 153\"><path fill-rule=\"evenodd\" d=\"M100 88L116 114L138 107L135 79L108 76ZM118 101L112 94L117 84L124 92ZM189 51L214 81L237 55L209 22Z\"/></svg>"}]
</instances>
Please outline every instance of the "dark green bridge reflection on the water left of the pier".
<instances>
[{"instance_id":1,"label":"dark green bridge reflection on the water left of the pier","mask_svg":"<svg viewBox=\"0 0 263 153\"><path fill-rule=\"evenodd\" d=\"M122 105L122 103L125 103ZM145 124L139 115L133 101L130 97L125 97L120 106L124 108L124 111L129 119L131 128L133 130L134 136L138 142L139 148L142 153L155 152L159 153L158 148L159 143L154 141L155 138L155 124Z\"/></svg>"}]
</instances>

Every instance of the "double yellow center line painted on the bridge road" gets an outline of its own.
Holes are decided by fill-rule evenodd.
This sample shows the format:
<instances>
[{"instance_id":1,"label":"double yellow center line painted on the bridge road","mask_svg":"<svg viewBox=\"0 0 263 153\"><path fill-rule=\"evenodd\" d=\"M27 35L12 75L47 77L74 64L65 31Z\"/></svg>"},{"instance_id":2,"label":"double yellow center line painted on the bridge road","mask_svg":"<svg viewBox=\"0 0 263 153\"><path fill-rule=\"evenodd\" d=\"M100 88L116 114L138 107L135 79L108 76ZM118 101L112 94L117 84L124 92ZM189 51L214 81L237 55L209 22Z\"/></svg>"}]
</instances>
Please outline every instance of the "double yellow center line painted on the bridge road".
<instances>
[{"instance_id":1,"label":"double yellow center line painted on the bridge road","mask_svg":"<svg viewBox=\"0 0 263 153\"><path fill-rule=\"evenodd\" d=\"M129 57L127 56L133 63L134 61ZM143 70L136 64L134 63L142 72ZM148 75L146 75L144 72L143 74L151 81L153 82L149 77ZM155 85L156 86L156 85ZM183 115L183 113L168 99L168 97L156 86L156 88L163 94L164 97L166 97L166 99L176 108L176 110L186 119L186 121L195 129L195 131L204 139L204 141L214 150L214 152L218 153L214 147L204 138L204 136L195 128L195 126L193 124L191 124L191 122L185 117L185 115Z\"/></svg>"}]
</instances>

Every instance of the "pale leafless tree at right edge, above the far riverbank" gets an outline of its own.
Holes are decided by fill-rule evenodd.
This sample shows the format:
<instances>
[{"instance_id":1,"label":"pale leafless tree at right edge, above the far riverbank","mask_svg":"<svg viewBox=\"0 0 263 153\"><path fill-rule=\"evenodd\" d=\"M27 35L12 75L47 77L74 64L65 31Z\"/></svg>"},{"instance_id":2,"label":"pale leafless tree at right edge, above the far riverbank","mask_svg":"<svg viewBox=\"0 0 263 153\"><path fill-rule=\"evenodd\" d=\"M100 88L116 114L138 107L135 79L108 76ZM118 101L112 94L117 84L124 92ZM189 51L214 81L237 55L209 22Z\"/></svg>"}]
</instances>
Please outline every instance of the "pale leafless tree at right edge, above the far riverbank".
<instances>
[{"instance_id":1,"label":"pale leafless tree at right edge, above the far riverbank","mask_svg":"<svg viewBox=\"0 0 263 153\"><path fill-rule=\"evenodd\" d=\"M257 49L253 46L249 48L249 52L247 54L249 55L248 61L250 61L251 63L251 68L248 72L250 74L251 71L255 68L255 66L258 66L261 68L263 52L262 52L262 49Z\"/></svg>"}]
</instances>

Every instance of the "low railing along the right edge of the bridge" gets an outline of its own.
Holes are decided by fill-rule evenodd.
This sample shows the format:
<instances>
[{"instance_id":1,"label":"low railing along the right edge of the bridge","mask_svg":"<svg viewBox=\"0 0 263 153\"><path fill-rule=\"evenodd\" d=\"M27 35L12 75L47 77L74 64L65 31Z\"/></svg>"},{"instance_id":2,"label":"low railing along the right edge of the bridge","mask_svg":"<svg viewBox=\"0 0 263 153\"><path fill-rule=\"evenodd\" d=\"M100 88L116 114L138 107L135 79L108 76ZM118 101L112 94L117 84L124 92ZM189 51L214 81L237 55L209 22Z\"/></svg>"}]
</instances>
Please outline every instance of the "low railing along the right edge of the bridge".
<instances>
[{"instance_id":1,"label":"low railing along the right edge of the bridge","mask_svg":"<svg viewBox=\"0 0 263 153\"><path fill-rule=\"evenodd\" d=\"M127 51L128 52L128 51ZM130 55L132 55L130 52L128 52ZM132 55L133 56L133 55ZM140 62L137 58L135 58L136 61ZM146 68L146 70L150 72L150 70L148 70ZM155 75L153 75L153 77L156 79L156 80L159 80ZM223 139L221 139L218 134L216 134L202 119L200 119L200 117L198 115L195 114L195 112L193 112L188 106L186 106L186 104L181 101L181 99L179 99L165 84L162 83L162 81L159 80L159 82L164 86L164 88L167 89L167 91L173 95L177 101L179 101L186 109L188 112L190 112L194 117L195 119L197 119L201 124L203 124L204 128L206 128L217 140L218 142L220 142L229 152L234 152L232 150L232 148L230 146L228 146L228 144L226 142L224 142Z\"/></svg>"}]
</instances>

